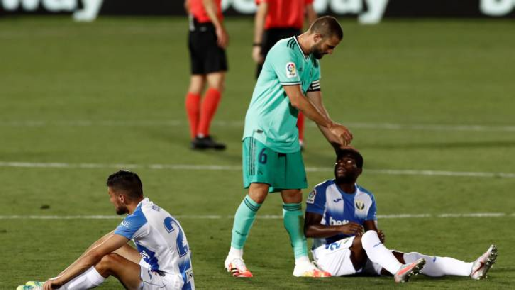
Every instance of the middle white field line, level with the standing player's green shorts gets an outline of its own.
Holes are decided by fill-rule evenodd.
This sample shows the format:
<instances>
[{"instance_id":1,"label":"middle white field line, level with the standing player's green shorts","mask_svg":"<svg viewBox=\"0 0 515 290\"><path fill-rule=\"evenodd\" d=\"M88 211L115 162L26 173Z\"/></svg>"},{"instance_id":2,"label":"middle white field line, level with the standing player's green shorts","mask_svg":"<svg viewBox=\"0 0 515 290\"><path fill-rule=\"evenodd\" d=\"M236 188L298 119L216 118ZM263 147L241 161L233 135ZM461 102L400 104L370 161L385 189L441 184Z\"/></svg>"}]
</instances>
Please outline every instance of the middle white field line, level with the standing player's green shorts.
<instances>
[{"instance_id":1,"label":"middle white field line, level with the standing player's green shorts","mask_svg":"<svg viewBox=\"0 0 515 290\"><path fill-rule=\"evenodd\" d=\"M228 170L239 171L241 166L232 165L188 165L188 164L101 164L101 163L62 163L62 162L5 162L0 167L25 168L124 168L124 169L168 169L168 170ZM306 167L307 172L332 172L330 167ZM380 175L418 175L418 176L461 176L478 178L515 178L515 173L505 172L470 172L415 169L367 169L368 174Z\"/></svg>"}]
</instances>

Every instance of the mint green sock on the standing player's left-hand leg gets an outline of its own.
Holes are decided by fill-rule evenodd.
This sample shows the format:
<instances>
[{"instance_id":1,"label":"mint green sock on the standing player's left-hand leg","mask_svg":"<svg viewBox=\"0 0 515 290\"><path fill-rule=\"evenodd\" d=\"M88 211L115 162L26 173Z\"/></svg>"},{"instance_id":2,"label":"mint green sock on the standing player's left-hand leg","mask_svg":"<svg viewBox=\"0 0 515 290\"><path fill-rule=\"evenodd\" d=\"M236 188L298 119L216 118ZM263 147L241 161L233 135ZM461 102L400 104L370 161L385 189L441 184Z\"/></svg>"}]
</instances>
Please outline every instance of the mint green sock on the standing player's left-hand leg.
<instances>
[{"instance_id":1,"label":"mint green sock on the standing player's left-hand leg","mask_svg":"<svg viewBox=\"0 0 515 290\"><path fill-rule=\"evenodd\" d=\"M261 203L253 201L248 195L245 196L234 215L234 223L232 225L231 247L235 249L243 249L247 236L249 234L252 223Z\"/></svg>"}]
</instances>

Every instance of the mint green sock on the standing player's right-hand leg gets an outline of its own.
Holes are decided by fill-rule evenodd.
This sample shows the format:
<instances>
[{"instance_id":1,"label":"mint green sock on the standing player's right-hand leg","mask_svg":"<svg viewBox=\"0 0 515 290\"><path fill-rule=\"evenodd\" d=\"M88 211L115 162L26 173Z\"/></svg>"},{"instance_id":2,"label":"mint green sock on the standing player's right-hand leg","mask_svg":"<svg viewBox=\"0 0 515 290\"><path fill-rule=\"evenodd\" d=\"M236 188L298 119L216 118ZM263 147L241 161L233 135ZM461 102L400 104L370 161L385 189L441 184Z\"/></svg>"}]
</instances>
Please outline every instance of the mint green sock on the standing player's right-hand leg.
<instances>
[{"instance_id":1,"label":"mint green sock on the standing player's right-hand leg","mask_svg":"<svg viewBox=\"0 0 515 290\"><path fill-rule=\"evenodd\" d=\"M288 232L295 260L307 257L307 242L304 236L304 219L301 203L283 203L284 228Z\"/></svg>"}]
</instances>

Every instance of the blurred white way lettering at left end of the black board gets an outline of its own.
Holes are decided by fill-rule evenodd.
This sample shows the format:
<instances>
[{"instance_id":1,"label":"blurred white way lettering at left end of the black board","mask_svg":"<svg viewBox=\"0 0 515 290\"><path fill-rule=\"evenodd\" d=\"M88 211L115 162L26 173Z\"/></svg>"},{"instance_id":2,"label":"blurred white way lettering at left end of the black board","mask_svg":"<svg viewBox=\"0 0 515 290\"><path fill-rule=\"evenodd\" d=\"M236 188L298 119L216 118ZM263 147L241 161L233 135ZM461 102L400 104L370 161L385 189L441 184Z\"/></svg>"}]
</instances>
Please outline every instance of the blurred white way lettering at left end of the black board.
<instances>
[{"instance_id":1,"label":"blurred white way lettering at left end of the black board","mask_svg":"<svg viewBox=\"0 0 515 290\"><path fill-rule=\"evenodd\" d=\"M48 12L73 12L75 20L92 21L97 17L103 2L104 0L0 0L0 5L6 11L31 12L41 7Z\"/></svg>"}]
</instances>

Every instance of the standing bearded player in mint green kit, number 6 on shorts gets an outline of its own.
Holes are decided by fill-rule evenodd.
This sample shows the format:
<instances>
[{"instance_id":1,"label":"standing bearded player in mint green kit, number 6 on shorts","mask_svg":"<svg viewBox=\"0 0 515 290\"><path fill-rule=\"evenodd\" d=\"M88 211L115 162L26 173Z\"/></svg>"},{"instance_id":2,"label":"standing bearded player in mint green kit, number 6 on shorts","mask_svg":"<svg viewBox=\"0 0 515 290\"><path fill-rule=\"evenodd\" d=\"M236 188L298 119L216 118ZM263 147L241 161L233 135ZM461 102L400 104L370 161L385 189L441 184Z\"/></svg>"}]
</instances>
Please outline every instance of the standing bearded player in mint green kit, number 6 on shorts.
<instances>
[{"instance_id":1,"label":"standing bearded player in mint green kit, number 6 on shorts","mask_svg":"<svg viewBox=\"0 0 515 290\"><path fill-rule=\"evenodd\" d=\"M347 128L329 118L320 91L319 59L332 54L342 37L338 21L322 17L299 37L279 41L266 57L245 117L243 180L249 190L234 216L231 249L225 261L235 277L252 277L243 261L243 247L268 192L278 191L284 227L295 253L293 275L327 276L309 261L300 225L301 189L307 187L307 180L295 124L302 111L335 147L351 141Z\"/></svg>"}]
</instances>

